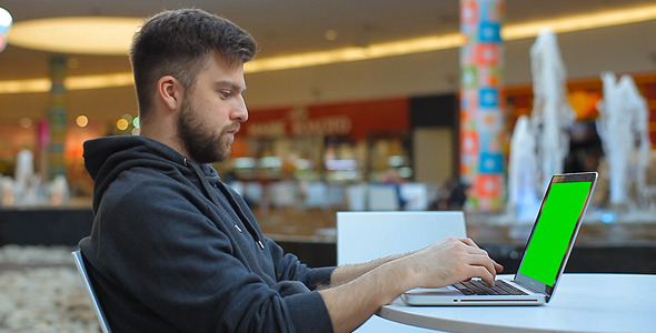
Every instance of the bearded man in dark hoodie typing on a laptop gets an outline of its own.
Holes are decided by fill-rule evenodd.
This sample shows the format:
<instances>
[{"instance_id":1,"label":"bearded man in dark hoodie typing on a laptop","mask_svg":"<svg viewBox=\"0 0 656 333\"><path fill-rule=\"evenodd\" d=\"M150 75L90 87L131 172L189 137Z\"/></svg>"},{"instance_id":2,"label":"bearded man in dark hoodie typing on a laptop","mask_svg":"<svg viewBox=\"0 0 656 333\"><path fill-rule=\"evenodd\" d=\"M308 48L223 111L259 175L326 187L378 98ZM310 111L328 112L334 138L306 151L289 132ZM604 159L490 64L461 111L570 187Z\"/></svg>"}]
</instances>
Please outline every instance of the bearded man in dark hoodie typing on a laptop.
<instances>
[{"instance_id":1,"label":"bearded man in dark hoodie typing on a laptop","mask_svg":"<svg viewBox=\"0 0 656 333\"><path fill-rule=\"evenodd\" d=\"M348 332L416 286L494 284L500 265L469 239L337 269L309 269L267 239L207 164L229 158L248 119L255 52L246 31L201 10L161 12L136 34L141 135L85 143L95 222L80 249L115 331Z\"/></svg>"}]
</instances>

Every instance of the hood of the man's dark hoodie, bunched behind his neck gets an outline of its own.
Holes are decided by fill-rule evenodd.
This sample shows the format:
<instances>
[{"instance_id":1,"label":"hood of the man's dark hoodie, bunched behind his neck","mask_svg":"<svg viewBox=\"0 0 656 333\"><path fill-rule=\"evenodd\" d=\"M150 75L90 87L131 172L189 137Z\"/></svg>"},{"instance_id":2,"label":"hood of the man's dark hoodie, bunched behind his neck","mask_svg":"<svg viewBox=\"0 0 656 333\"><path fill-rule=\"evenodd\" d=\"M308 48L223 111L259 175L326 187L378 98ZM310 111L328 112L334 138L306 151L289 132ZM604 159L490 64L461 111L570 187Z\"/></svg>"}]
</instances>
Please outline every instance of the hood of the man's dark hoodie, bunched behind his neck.
<instances>
[{"instance_id":1,"label":"hood of the man's dark hoodie, bunched behind his neck","mask_svg":"<svg viewBox=\"0 0 656 333\"><path fill-rule=\"evenodd\" d=\"M215 201L203 186L220 181L217 171L207 165L197 165L172 148L146 137L120 135L88 140L85 148L85 168L93 179L93 213L111 182L125 170L147 167L162 173L181 173L187 179L198 179L201 191Z\"/></svg>"}]
</instances>

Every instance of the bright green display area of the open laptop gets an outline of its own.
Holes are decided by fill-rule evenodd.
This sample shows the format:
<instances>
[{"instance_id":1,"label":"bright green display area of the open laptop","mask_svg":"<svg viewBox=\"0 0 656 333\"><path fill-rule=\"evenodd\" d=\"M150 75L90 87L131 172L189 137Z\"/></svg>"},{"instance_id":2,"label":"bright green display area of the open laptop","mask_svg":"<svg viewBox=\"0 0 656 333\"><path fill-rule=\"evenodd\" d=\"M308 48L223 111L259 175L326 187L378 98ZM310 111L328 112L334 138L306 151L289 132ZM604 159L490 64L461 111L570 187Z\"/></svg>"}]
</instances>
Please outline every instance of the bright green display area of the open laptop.
<instances>
[{"instance_id":1,"label":"bright green display area of the open laptop","mask_svg":"<svg viewBox=\"0 0 656 333\"><path fill-rule=\"evenodd\" d=\"M553 183L519 273L554 286L593 182Z\"/></svg>"}]
</instances>

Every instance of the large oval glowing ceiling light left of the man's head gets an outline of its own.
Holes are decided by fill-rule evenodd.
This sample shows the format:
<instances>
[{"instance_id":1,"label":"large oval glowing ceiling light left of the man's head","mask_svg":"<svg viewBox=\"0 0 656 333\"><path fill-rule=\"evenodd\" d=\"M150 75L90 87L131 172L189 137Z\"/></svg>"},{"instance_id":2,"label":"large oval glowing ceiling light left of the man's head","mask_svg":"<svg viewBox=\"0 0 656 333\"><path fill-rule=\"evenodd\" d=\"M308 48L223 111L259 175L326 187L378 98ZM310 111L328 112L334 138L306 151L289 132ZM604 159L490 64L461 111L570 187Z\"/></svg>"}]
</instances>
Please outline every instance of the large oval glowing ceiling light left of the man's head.
<instances>
[{"instance_id":1,"label":"large oval glowing ceiling light left of the man's head","mask_svg":"<svg viewBox=\"0 0 656 333\"><path fill-rule=\"evenodd\" d=\"M141 18L66 17L16 22L12 46L60 53L125 56Z\"/></svg>"}]
</instances>

